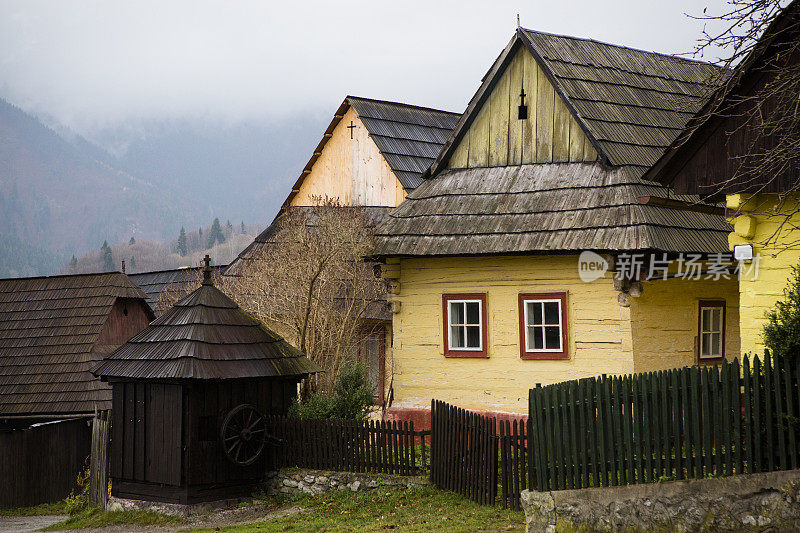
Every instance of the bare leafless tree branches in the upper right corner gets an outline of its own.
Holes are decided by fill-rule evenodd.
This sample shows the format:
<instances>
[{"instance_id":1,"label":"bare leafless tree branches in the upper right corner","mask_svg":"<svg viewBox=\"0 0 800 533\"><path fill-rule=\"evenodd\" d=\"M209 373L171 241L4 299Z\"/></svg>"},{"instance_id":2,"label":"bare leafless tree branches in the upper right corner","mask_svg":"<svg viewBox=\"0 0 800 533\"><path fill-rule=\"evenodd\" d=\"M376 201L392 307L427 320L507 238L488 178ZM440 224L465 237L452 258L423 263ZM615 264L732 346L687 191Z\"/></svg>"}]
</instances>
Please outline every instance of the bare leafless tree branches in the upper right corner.
<instances>
[{"instance_id":1,"label":"bare leafless tree branches in the upper right corner","mask_svg":"<svg viewBox=\"0 0 800 533\"><path fill-rule=\"evenodd\" d=\"M775 190L775 180L781 180L777 201L760 206L762 214L781 217L776 234L800 211L800 205L790 203L792 193L800 191L799 7L798 1L729 0L723 13L704 11L695 17L707 23L695 53L721 50L718 63L726 67L709 84L719 89L710 95L705 116L695 124L711 116L734 118L730 123L738 126L726 132L728 139L740 129L748 130L747 135L738 136L746 141L735 150L732 172L708 192L735 185L759 193ZM793 10L794 16L780 17L784 10ZM779 17L782 20L776 24ZM761 53L767 49L768 53ZM765 74L761 79L766 81L756 83L751 91L735 90L745 70L752 67Z\"/></svg>"}]
</instances>

